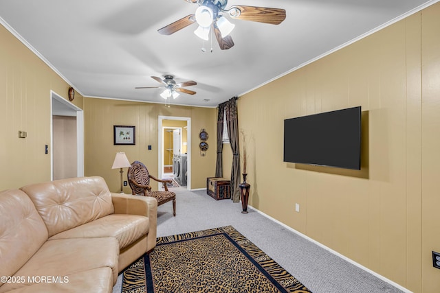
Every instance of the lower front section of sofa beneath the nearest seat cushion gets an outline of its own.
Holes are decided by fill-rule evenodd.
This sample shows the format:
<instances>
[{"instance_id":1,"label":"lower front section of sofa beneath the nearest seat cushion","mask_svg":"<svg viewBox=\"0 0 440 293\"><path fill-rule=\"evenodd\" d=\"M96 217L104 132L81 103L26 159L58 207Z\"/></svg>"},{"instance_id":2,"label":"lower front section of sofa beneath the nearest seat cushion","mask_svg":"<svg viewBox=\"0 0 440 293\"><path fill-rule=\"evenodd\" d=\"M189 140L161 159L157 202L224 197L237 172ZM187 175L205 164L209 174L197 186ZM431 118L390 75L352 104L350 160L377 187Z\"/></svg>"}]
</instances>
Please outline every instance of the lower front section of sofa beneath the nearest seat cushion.
<instances>
[{"instance_id":1,"label":"lower front section of sofa beneath the nearest seat cushion","mask_svg":"<svg viewBox=\"0 0 440 293\"><path fill-rule=\"evenodd\" d=\"M111 268L95 268L66 276L66 279L56 281L41 281L21 287L10 293L63 293L63 292L94 292L109 293L113 291Z\"/></svg>"}]
</instances>

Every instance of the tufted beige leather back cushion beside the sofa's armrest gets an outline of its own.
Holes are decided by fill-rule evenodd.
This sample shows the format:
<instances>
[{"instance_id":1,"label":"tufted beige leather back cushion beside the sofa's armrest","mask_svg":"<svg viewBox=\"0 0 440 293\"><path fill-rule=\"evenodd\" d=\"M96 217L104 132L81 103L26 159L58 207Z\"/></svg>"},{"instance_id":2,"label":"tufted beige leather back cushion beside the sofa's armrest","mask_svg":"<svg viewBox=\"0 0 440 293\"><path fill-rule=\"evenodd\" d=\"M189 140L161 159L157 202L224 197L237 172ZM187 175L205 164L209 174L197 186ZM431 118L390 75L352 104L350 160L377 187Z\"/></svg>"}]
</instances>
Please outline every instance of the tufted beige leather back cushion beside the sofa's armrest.
<instances>
[{"instance_id":1,"label":"tufted beige leather back cushion beside the sofa's armrest","mask_svg":"<svg viewBox=\"0 0 440 293\"><path fill-rule=\"evenodd\" d=\"M54 180L21 190L34 202L49 237L113 213L109 187L102 177Z\"/></svg>"}]
</instances>

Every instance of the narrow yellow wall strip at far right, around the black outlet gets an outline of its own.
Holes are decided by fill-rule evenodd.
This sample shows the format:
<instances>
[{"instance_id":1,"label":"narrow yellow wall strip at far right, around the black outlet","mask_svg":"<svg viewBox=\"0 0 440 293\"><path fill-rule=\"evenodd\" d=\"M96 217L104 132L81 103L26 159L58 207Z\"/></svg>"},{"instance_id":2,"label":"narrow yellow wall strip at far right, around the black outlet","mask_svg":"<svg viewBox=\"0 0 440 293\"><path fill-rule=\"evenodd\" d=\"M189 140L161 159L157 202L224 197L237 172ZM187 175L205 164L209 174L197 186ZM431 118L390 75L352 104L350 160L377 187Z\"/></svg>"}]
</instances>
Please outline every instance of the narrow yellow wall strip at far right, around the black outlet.
<instances>
[{"instance_id":1,"label":"narrow yellow wall strip at far right, around the black outlet","mask_svg":"<svg viewBox=\"0 0 440 293\"><path fill-rule=\"evenodd\" d=\"M415 148L421 148L419 191L423 192L417 202L408 202L408 211L413 213L415 207L422 215L419 235L423 292L440 292L440 270L432 268L430 258L431 250L440 250L440 3L423 10L421 28L421 146Z\"/></svg>"}]
</instances>

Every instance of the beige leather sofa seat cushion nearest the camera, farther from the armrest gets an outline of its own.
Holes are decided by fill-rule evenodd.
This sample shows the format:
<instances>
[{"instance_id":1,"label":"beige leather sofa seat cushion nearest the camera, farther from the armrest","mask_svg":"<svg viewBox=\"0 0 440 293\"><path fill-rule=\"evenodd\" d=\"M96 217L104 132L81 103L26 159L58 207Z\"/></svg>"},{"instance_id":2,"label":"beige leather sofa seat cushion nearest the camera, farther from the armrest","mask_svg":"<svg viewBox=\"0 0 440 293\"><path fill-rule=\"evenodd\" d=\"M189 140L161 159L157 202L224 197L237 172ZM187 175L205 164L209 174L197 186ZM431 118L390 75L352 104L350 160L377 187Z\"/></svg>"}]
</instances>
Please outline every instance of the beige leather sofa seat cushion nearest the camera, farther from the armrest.
<instances>
[{"instance_id":1,"label":"beige leather sofa seat cushion nearest the camera, farther from the armrest","mask_svg":"<svg viewBox=\"0 0 440 293\"><path fill-rule=\"evenodd\" d=\"M119 245L115 237L48 240L14 276L23 283L4 283L0 292L33 285L32 277L63 279L96 268L111 268L113 285L118 279ZM89 292L89 291L88 291Z\"/></svg>"}]
</instances>

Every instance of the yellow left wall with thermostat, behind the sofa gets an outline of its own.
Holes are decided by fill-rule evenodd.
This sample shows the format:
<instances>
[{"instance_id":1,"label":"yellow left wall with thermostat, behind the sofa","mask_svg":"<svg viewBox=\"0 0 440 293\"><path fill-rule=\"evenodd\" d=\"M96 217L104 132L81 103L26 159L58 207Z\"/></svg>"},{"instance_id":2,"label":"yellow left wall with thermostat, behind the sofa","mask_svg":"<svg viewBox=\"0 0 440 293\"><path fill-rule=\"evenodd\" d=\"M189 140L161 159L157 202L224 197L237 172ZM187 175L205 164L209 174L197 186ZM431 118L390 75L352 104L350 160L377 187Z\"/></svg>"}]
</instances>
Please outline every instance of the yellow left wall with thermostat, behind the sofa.
<instances>
[{"instance_id":1,"label":"yellow left wall with thermostat, behind the sofa","mask_svg":"<svg viewBox=\"0 0 440 293\"><path fill-rule=\"evenodd\" d=\"M50 180L51 90L69 84L0 25L0 190ZM83 97L74 104L83 108ZM19 130L28 137L19 139Z\"/></svg>"}]
</instances>

